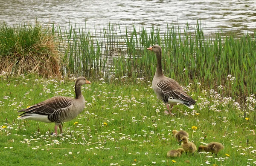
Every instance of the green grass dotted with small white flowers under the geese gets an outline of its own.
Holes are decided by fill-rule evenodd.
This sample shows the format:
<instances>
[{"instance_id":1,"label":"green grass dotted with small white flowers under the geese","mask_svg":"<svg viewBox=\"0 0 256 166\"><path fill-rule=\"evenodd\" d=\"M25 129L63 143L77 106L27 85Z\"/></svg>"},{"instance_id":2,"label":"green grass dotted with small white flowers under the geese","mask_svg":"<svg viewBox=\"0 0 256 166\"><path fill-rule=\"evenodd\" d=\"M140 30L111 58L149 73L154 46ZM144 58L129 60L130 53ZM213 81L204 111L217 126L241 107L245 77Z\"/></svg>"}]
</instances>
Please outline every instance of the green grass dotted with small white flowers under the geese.
<instances>
[{"instance_id":1,"label":"green grass dotted with small white flowers under the geese","mask_svg":"<svg viewBox=\"0 0 256 166\"><path fill-rule=\"evenodd\" d=\"M17 110L57 95L74 97L74 79L0 79L2 165L198 166L209 161L210 165L246 166L256 162L255 96L242 105L224 96L221 89L208 91L199 84L186 86L197 106L194 110L175 106L176 114L171 117L163 113L166 106L157 100L148 81L122 77L105 82L87 77L92 84L82 89L87 100L84 112L64 123L64 134L54 137L50 135L54 123L17 120ZM231 89L233 86L230 83ZM192 126L197 126L194 133ZM180 147L172 137L173 129L187 131L197 147L201 142L216 141L225 148L217 159L205 153L169 159L167 152Z\"/></svg>"}]
</instances>

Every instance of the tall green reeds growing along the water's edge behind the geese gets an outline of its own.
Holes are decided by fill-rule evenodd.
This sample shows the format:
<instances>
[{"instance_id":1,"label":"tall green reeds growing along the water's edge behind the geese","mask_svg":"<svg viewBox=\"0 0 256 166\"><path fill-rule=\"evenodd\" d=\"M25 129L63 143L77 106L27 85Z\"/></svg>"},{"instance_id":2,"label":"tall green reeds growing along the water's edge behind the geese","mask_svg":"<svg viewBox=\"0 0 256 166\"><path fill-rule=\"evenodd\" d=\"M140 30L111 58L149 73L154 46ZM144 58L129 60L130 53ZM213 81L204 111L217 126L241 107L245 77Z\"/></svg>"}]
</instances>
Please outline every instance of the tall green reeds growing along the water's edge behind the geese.
<instances>
[{"instance_id":1,"label":"tall green reeds growing along the water's edge behind the geese","mask_svg":"<svg viewBox=\"0 0 256 166\"><path fill-rule=\"evenodd\" d=\"M58 35L59 43L65 43L60 47L67 62L63 74L151 80L157 62L146 48L157 44L163 49L164 73L183 85L221 88L223 94L242 100L256 92L255 33L236 36L220 31L205 36L198 22L193 30L189 25L167 25L164 33L155 26L121 31L120 25L109 23L96 31L70 25L63 32L59 27Z\"/></svg>"}]
</instances>

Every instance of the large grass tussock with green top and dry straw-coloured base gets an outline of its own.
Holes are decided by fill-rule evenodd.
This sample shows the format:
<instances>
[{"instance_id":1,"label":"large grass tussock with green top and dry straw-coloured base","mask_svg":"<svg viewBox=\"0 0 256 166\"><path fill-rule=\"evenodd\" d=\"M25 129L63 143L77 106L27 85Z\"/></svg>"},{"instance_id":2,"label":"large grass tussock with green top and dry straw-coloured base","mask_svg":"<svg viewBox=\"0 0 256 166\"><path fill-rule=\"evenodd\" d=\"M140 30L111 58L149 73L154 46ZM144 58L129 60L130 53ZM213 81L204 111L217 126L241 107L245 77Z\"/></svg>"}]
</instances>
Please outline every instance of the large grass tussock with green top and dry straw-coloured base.
<instances>
[{"instance_id":1,"label":"large grass tussock with green top and dry straw-coloured base","mask_svg":"<svg viewBox=\"0 0 256 166\"><path fill-rule=\"evenodd\" d=\"M60 77L60 55L54 35L39 23L0 26L0 72Z\"/></svg>"}]
</instances>

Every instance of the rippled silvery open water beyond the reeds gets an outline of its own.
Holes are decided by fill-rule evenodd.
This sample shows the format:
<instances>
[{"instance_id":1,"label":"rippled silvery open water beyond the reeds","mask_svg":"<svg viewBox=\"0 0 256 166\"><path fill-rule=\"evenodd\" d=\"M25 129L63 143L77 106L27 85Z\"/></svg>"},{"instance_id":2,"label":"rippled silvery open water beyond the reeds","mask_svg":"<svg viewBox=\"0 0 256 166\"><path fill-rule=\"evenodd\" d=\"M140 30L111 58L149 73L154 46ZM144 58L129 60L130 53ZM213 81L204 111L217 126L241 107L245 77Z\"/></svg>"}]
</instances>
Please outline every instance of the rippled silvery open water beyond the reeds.
<instances>
[{"instance_id":1,"label":"rippled silvery open water beyond the reeds","mask_svg":"<svg viewBox=\"0 0 256 166\"><path fill-rule=\"evenodd\" d=\"M109 22L125 26L166 23L193 29L197 19L207 32L221 28L233 31L254 31L256 28L254 0L2 0L0 20L8 24L20 21L58 23L66 28L70 23L87 28L105 26Z\"/></svg>"}]
</instances>

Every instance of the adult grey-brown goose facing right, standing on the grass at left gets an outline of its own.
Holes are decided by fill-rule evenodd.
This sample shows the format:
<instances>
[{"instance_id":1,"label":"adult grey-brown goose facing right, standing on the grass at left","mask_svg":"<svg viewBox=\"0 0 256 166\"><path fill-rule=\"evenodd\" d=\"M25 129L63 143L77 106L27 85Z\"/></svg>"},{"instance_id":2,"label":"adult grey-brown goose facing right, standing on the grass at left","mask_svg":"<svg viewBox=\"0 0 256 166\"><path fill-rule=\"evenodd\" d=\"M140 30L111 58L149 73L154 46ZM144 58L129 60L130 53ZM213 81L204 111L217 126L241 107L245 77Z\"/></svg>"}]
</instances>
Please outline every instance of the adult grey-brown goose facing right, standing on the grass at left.
<instances>
[{"instance_id":1,"label":"adult grey-brown goose facing right, standing on the grass at left","mask_svg":"<svg viewBox=\"0 0 256 166\"><path fill-rule=\"evenodd\" d=\"M60 128L62 133L61 123L70 121L79 115L85 107L84 96L81 93L81 86L90 84L90 81L85 77L78 77L75 83L76 98L70 97L52 97L41 103L22 109L17 119L38 120L45 123L55 123L54 132L58 135L57 129Z\"/></svg>"}]
</instances>

